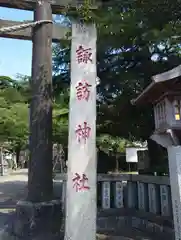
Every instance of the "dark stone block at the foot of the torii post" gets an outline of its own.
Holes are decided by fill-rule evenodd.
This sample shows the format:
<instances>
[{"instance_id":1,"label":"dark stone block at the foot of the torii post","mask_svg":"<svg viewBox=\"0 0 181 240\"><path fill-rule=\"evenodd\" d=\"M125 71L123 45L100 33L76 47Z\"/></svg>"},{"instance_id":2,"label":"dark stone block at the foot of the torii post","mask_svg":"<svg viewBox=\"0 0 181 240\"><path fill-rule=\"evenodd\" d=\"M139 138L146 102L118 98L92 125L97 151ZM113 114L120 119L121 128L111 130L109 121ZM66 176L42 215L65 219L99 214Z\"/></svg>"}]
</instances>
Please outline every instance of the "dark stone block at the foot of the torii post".
<instances>
[{"instance_id":1,"label":"dark stone block at the foot of the torii post","mask_svg":"<svg viewBox=\"0 0 181 240\"><path fill-rule=\"evenodd\" d=\"M62 218L59 200L41 203L19 201L6 232L17 240L60 240Z\"/></svg>"}]
</instances>

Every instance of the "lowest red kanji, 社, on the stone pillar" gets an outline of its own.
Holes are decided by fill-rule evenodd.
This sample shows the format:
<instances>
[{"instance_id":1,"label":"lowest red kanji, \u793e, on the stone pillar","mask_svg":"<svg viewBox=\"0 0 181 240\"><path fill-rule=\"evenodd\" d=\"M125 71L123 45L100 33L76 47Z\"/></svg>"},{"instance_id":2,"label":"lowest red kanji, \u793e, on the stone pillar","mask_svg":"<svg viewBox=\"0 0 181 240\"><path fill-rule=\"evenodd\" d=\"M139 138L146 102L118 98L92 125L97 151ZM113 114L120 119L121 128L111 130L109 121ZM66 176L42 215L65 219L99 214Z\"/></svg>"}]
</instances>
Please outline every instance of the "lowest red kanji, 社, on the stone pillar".
<instances>
[{"instance_id":1,"label":"lowest red kanji, \u793e, on the stone pillar","mask_svg":"<svg viewBox=\"0 0 181 240\"><path fill-rule=\"evenodd\" d=\"M75 177L72 179L73 188L76 192L80 192L83 190L89 190L90 187L86 185L88 183L88 177L86 174L82 174L82 176L78 173L75 173Z\"/></svg>"}]
</instances>

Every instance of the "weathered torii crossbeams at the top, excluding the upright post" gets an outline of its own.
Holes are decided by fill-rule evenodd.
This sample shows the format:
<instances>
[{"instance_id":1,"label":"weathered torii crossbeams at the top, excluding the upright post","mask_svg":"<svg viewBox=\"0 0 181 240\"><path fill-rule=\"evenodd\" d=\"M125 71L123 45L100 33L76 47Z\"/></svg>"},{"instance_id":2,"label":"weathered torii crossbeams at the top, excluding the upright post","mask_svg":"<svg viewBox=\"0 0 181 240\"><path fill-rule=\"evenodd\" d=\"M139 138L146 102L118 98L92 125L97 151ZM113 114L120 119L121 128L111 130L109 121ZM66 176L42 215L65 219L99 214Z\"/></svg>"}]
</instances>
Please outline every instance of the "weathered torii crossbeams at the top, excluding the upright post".
<instances>
[{"instance_id":1,"label":"weathered torii crossbeams at the top, excluding the upright post","mask_svg":"<svg viewBox=\"0 0 181 240\"><path fill-rule=\"evenodd\" d=\"M0 7L8 7L22 10L32 10L36 9L37 0L0 0ZM53 14L61 14L61 11L66 7L70 6L75 8L77 6L81 6L83 4L83 0L52 0L49 1L51 3L51 9ZM96 0L91 1L91 8L97 9L101 6L101 2ZM27 21L26 21L27 22ZM21 25L23 22L9 21L0 19L0 29L2 27L11 27L15 25ZM53 24L53 34L52 41L60 42L61 40L70 40L67 38L67 33L70 31L69 28L60 26L58 24ZM22 40L32 40L32 28L26 28L23 30L8 32L1 34L0 37L4 38L13 38L13 39L22 39Z\"/></svg>"}]
</instances>

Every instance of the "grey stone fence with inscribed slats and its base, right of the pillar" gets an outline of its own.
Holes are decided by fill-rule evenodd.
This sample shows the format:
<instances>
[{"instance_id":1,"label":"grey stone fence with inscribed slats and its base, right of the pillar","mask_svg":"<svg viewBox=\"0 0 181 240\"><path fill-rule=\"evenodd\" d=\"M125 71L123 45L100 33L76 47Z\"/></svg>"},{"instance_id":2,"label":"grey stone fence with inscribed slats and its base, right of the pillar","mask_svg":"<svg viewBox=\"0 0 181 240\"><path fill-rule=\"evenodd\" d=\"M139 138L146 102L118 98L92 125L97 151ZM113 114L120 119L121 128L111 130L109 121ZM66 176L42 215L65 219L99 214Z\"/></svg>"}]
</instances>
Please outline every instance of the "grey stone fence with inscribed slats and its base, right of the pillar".
<instances>
[{"instance_id":1,"label":"grey stone fence with inscribed slats and its base, right of the pillar","mask_svg":"<svg viewBox=\"0 0 181 240\"><path fill-rule=\"evenodd\" d=\"M59 180L63 182L64 209L66 175L56 176L56 181ZM129 225L158 239L174 239L168 177L99 174L97 182L98 229L119 231Z\"/></svg>"}]
</instances>

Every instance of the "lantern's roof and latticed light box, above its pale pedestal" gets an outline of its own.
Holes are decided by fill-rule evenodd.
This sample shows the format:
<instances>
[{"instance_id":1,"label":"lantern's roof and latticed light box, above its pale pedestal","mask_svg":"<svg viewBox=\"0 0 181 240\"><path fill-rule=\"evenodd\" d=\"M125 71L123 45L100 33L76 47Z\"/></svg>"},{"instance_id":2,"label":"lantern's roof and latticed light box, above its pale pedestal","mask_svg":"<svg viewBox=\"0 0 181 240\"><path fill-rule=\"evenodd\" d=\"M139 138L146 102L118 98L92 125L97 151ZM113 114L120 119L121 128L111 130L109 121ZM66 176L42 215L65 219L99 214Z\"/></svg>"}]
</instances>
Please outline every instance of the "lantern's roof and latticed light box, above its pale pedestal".
<instances>
[{"instance_id":1,"label":"lantern's roof and latticed light box, above its pale pedestal","mask_svg":"<svg viewBox=\"0 0 181 240\"><path fill-rule=\"evenodd\" d=\"M181 137L181 65L153 76L152 83L132 103L153 104L154 134L163 135L172 131L178 141Z\"/></svg>"}]
</instances>

